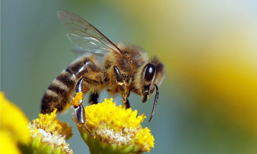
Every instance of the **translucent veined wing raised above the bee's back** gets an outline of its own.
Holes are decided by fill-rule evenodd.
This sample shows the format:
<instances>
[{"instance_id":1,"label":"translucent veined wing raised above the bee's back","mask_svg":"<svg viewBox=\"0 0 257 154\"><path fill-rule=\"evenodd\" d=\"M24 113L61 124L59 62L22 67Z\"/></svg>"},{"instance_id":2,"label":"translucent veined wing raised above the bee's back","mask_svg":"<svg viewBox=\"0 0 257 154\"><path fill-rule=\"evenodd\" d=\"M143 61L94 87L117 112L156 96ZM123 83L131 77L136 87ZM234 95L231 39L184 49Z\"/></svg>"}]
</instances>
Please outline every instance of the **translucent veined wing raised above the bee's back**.
<instances>
[{"instance_id":1,"label":"translucent veined wing raised above the bee's back","mask_svg":"<svg viewBox=\"0 0 257 154\"><path fill-rule=\"evenodd\" d=\"M68 11L57 11L56 14L67 28L68 38L77 47L93 53L120 53L121 50L114 43L81 17Z\"/></svg>"}]
</instances>

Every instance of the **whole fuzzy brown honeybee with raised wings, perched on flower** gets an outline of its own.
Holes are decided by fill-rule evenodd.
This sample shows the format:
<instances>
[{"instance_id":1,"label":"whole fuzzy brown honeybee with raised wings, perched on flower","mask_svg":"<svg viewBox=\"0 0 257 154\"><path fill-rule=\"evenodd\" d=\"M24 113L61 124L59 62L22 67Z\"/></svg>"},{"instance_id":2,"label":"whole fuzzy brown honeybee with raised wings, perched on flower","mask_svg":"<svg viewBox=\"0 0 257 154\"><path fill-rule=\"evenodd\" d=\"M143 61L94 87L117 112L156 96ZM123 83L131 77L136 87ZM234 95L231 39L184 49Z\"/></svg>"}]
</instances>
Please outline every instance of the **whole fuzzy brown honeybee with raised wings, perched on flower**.
<instances>
[{"instance_id":1,"label":"whole fuzzy brown honeybee with raised wings, perched on flower","mask_svg":"<svg viewBox=\"0 0 257 154\"><path fill-rule=\"evenodd\" d=\"M114 44L94 26L68 11L57 11L59 21L67 28L67 36L77 47L91 53L104 53L103 67L94 54L78 57L67 69L53 80L41 100L41 113L57 108L59 112L71 106L77 93L91 91L89 101L96 104L98 94L105 87L111 94L120 92L122 102L130 108L128 97L133 91L142 97L142 102L156 90L151 121L158 100L158 86L164 79L164 64L154 56L149 58L136 45ZM83 99L74 106L79 124L85 123Z\"/></svg>"}]
</instances>

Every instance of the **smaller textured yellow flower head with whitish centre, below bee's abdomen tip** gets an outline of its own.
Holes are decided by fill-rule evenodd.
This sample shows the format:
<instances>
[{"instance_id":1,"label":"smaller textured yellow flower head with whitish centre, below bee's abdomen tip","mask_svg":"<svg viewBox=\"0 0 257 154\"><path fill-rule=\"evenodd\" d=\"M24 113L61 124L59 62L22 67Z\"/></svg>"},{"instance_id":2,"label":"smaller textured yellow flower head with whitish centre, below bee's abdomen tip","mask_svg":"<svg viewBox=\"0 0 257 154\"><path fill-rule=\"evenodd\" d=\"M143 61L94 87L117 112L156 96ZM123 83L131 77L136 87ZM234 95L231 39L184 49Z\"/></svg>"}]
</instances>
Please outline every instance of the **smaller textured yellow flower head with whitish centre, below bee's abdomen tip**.
<instances>
[{"instance_id":1,"label":"smaller textured yellow flower head with whitish centre, below bee's abdomen tip","mask_svg":"<svg viewBox=\"0 0 257 154\"><path fill-rule=\"evenodd\" d=\"M72 127L56 118L55 109L50 115L39 114L29 124L32 136L31 148L36 153L74 153L66 142L72 136Z\"/></svg>"}]
</instances>

